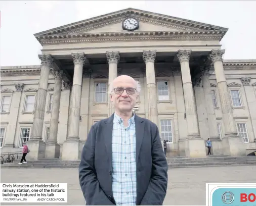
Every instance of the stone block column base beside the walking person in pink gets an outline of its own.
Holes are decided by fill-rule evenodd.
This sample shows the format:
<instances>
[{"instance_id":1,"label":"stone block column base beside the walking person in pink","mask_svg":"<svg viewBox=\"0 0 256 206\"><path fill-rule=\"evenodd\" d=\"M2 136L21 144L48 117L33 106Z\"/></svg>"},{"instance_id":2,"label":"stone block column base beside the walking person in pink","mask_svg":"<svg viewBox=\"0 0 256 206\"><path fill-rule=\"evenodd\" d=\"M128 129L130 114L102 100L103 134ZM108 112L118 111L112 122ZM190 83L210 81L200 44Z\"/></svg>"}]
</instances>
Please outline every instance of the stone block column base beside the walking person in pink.
<instances>
[{"instance_id":1,"label":"stone block column base beside the walking person in pink","mask_svg":"<svg viewBox=\"0 0 256 206\"><path fill-rule=\"evenodd\" d=\"M26 142L28 149L26 160L38 160L45 158L46 143L41 139L33 139Z\"/></svg>"}]
</instances>

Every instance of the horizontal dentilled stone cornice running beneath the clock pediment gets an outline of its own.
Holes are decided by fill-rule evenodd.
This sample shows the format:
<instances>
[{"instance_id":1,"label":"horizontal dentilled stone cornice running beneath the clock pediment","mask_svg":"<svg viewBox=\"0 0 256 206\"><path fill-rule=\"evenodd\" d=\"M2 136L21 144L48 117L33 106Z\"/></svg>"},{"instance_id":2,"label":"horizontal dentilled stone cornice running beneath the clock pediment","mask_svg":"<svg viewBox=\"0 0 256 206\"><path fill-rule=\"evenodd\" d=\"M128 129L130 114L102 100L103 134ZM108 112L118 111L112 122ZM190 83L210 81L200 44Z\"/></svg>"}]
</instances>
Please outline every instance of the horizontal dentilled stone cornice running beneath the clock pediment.
<instances>
[{"instance_id":1,"label":"horizontal dentilled stone cornice running beneath the clock pediment","mask_svg":"<svg viewBox=\"0 0 256 206\"><path fill-rule=\"evenodd\" d=\"M114 42L114 41L158 41L158 40L221 40L225 32L220 31L147 31L147 32L106 32L88 34L67 34L40 36L37 40L42 45Z\"/></svg>"}]
</instances>

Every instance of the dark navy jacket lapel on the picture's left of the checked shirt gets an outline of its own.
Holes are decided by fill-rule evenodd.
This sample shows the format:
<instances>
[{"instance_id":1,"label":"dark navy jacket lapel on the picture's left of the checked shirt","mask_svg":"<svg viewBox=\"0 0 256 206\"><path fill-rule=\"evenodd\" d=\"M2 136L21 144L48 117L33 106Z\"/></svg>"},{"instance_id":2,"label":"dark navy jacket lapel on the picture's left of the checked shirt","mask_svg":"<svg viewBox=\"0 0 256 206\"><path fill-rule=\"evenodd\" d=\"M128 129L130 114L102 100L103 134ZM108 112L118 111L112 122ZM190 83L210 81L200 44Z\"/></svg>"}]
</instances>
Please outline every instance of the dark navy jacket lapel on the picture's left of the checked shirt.
<instances>
[{"instance_id":1,"label":"dark navy jacket lapel on the picture's left of the checked shirt","mask_svg":"<svg viewBox=\"0 0 256 206\"><path fill-rule=\"evenodd\" d=\"M112 130L113 130L113 119L114 114L106 119L105 124L103 125L102 135L105 139L105 146L107 151L107 157L109 160L109 166L112 168Z\"/></svg>"}]
</instances>

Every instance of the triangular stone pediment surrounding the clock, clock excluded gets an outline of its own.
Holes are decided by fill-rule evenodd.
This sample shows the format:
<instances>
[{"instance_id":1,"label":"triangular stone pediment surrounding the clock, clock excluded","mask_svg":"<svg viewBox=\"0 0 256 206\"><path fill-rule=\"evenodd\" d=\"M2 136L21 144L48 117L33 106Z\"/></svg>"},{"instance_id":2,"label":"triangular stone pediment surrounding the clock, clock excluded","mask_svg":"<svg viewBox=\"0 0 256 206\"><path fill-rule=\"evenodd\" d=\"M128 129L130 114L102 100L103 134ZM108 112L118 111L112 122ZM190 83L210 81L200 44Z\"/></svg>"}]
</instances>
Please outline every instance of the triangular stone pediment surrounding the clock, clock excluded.
<instances>
[{"instance_id":1,"label":"triangular stone pediment surrounding the clock, clock excluded","mask_svg":"<svg viewBox=\"0 0 256 206\"><path fill-rule=\"evenodd\" d=\"M40 33L34 34L37 38L45 36L45 38L58 38L59 35L79 35L79 34L97 34L106 32L127 32L122 29L122 22L128 18L133 17L139 22L139 28L135 31L220 31L226 32L228 29L214 26L210 24L200 23L196 21L176 18L172 16L137 10L124 9L110 14L105 14L99 17L75 22L64 25L58 28L50 29ZM79 36L77 36L79 37Z\"/></svg>"}]
</instances>

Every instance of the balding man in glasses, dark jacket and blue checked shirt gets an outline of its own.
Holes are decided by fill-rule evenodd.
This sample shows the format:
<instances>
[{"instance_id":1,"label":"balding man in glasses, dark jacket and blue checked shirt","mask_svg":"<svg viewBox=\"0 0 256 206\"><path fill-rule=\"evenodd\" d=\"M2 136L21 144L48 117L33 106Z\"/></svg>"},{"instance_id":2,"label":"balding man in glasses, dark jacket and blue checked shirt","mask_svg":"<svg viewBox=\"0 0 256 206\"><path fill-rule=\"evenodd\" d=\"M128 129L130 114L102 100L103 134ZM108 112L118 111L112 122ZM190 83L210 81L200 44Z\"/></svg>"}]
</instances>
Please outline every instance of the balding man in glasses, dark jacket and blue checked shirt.
<instances>
[{"instance_id":1,"label":"balding man in glasses, dark jacket and blue checked shirt","mask_svg":"<svg viewBox=\"0 0 256 206\"><path fill-rule=\"evenodd\" d=\"M94 124L81 153L87 205L162 205L167 162L157 126L134 114L140 84L119 76L109 86L115 113Z\"/></svg>"}]
</instances>

